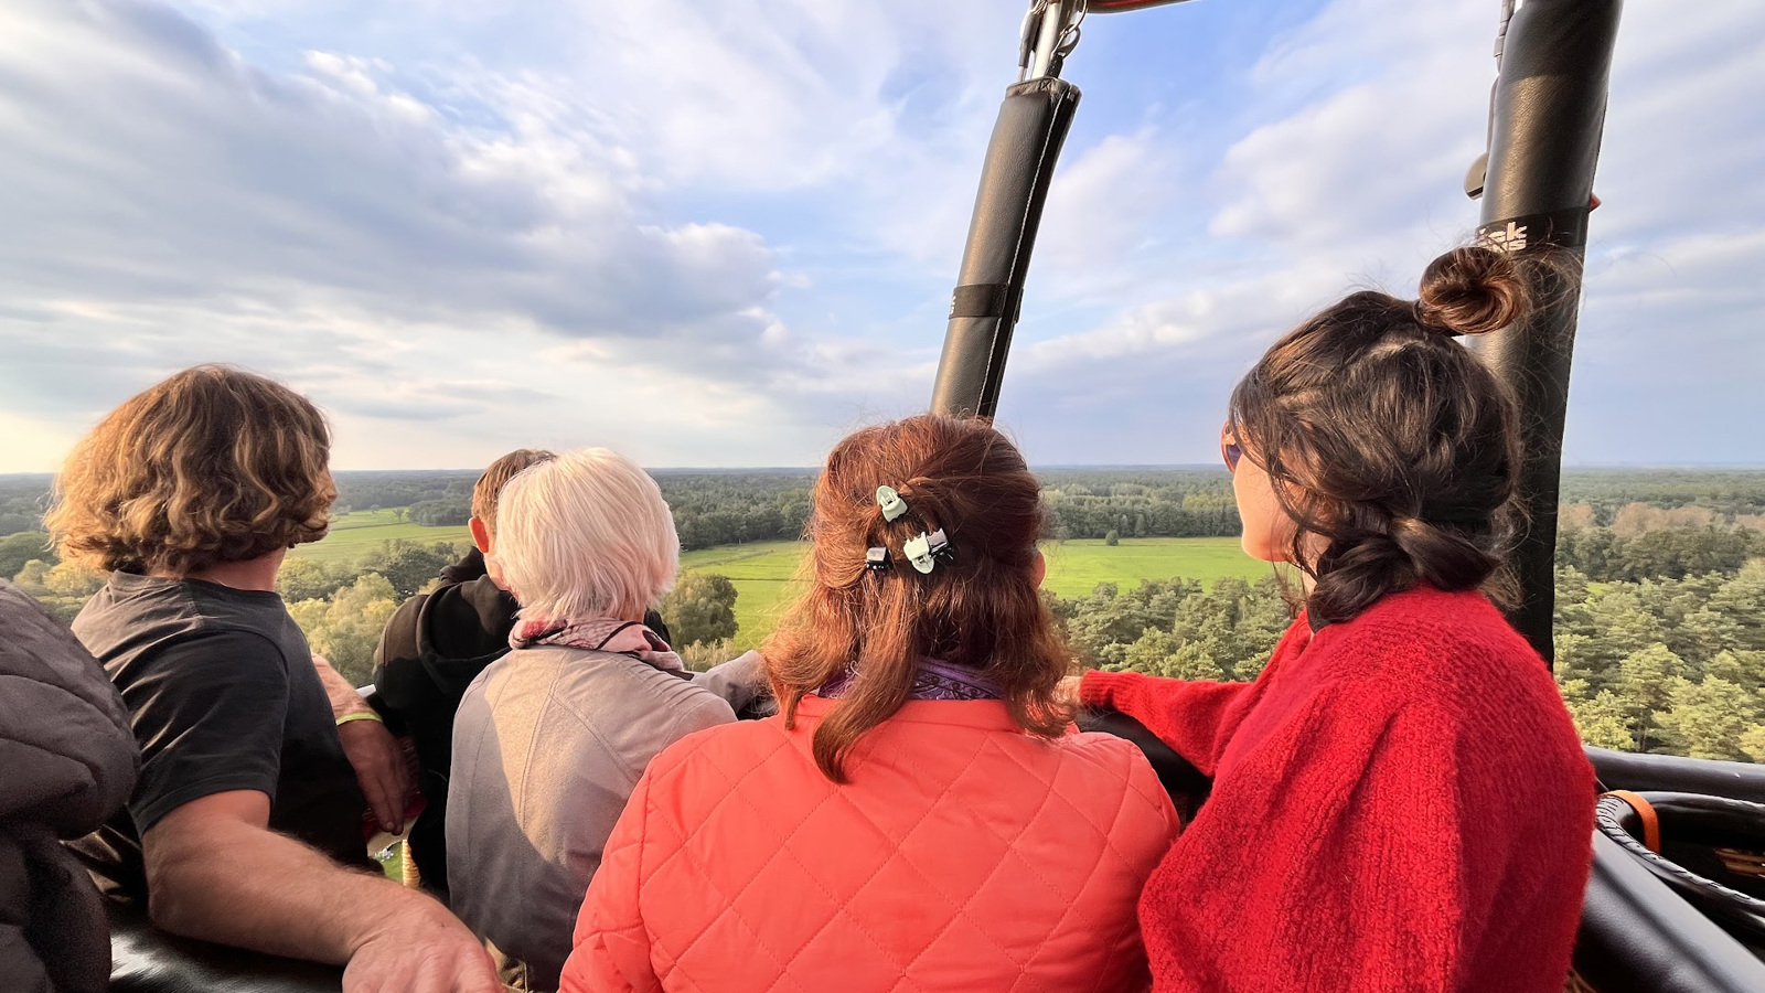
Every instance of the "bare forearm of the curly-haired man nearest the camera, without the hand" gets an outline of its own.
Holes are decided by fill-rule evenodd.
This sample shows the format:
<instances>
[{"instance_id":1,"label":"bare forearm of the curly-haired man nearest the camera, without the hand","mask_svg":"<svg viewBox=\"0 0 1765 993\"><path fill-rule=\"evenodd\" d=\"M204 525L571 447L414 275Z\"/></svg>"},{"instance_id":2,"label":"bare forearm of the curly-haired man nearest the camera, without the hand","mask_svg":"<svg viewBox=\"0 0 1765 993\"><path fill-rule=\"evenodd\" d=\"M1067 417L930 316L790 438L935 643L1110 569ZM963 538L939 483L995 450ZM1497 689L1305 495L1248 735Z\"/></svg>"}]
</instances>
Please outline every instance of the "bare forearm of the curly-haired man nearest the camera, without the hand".
<instances>
[{"instance_id":1,"label":"bare forearm of the curly-haired man nearest the camera, without the hand","mask_svg":"<svg viewBox=\"0 0 1765 993\"><path fill-rule=\"evenodd\" d=\"M224 945L342 965L388 919L445 913L385 876L251 825L217 823L159 855L148 876L154 922Z\"/></svg>"}]
</instances>

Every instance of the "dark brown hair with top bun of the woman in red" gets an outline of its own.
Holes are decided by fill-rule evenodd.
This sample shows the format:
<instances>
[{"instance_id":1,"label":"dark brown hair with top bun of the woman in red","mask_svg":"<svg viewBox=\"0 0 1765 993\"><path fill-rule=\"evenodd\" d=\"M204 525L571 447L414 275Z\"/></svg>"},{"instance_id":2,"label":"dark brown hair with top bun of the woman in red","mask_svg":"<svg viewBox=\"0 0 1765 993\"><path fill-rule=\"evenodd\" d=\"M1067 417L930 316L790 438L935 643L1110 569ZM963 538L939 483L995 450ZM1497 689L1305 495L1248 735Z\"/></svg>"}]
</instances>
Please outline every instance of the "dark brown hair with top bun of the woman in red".
<instances>
[{"instance_id":1,"label":"dark brown hair with top bun of the woman in red","mask_svg":"<svg viewBox=\"0 0 1765 993\"><path fill-rule=\"evenodd\" d=\"M1456 336L1530 307L1484 247L1428 265L1417 300L1352 293L1274 343L1232 392L1228 429L1296 521L1313 629L1426 583L1509 601L1520 431L1495 375Z\"/></svg>"}]
</instances>

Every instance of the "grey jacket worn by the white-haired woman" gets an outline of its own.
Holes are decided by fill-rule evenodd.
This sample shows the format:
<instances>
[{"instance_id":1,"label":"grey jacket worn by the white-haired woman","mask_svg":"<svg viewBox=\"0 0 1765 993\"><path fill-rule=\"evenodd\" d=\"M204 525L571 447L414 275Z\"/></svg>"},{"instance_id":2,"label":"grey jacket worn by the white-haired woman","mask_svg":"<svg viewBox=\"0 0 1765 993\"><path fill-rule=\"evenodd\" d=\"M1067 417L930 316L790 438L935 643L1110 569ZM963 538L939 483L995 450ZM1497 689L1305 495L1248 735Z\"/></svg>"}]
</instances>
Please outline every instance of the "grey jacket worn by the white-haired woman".
<instances>
[{"instance_id":1,"label":"grey jacket worn by the white-haired woman","mask_svg":"<svg viewBox=\"0 0 1765 993\"><path fill-rule=\"evenodd\" d=\"M759 682L752 652L687 680L630 656L549 645L514 650L471 682L454 719L450 903L507 981L558 988L637 777L676 740L732 723Z\"/></svg>"}]
</instances>

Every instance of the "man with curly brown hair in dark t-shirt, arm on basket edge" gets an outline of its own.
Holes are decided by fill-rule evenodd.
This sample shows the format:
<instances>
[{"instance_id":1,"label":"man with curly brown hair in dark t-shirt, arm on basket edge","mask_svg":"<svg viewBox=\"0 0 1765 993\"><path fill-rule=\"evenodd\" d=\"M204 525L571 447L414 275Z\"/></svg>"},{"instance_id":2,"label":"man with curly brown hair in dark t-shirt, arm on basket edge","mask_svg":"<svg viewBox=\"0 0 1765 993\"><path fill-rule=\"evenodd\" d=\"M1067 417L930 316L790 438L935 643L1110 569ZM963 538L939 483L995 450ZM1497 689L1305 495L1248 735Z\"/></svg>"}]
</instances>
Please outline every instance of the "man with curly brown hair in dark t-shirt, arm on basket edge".
<instances>
[{"instance_id":1,"label":"man with curly brown hair in dark t-shirt, arm on basket edge","mask_svg":"<svg viewBox=\"0 0 1765 993\"><path fill-rule=\"evenodd\" d=\"M383 790L339 737L360 710L334 709L348 686L328 698L275 594L288 550L325 537L328 459L316 406L222 366L129 399L69 456L46 523L109 571L74 634L141 747L127 811L76 848L164 931L348 963L349 993L492 993L471 933L372 871L362 785Z\"/></svg>"}]
</instances>

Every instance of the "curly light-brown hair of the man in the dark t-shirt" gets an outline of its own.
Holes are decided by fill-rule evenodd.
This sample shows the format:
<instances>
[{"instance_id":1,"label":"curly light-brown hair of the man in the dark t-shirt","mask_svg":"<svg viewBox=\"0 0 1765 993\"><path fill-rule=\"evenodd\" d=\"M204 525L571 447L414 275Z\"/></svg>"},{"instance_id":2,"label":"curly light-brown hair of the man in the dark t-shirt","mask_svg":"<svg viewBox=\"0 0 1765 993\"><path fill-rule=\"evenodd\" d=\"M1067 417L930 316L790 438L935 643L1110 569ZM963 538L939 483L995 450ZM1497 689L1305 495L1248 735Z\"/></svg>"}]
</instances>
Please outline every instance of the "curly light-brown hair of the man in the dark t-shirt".
<instances>
[{"instance_id":1,"label":"curly light-brown hair of the man in the dark t-shirt","mask_svg":"<svg viewBox=\"0 0 1765 993\"><path fill-rule=\"evenodd\" d=\"M291 389L196 366L113 410L67 456L44 516L62 558L189 576L325 537L325 415Z\"/></svg>"}]
</instances>

